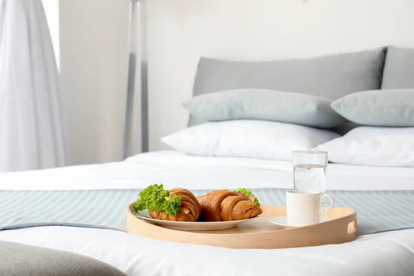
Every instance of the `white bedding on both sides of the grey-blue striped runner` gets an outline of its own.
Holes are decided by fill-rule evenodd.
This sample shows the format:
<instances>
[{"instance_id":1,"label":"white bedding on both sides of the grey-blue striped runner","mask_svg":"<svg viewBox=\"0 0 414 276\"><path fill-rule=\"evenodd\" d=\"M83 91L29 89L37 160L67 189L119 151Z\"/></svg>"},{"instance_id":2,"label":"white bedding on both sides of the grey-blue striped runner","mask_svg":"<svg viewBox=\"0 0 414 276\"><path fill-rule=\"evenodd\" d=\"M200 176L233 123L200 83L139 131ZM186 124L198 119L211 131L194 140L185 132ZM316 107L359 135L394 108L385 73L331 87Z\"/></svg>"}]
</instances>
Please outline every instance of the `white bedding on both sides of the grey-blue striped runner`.
<instances>
[{"instance_id":1,"label":"white bedding on both sides of the grey-blue striped runner","mask_svg":"<svg viewBox=\"0 0 414 276\"><path fill-rule=\"evenodd\" d=\"M124 162L0 175L0 189L293 186L290 162L150 152ZM414 168L328 165L331 190L413 190ZM128 275L414 275L414 230L310 248L233 250L135 237L114 230L43 226L0 231L0 239L87 255ZM208 269L207 269L208 268Z\"/></svg>"}]
</instances>

